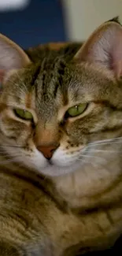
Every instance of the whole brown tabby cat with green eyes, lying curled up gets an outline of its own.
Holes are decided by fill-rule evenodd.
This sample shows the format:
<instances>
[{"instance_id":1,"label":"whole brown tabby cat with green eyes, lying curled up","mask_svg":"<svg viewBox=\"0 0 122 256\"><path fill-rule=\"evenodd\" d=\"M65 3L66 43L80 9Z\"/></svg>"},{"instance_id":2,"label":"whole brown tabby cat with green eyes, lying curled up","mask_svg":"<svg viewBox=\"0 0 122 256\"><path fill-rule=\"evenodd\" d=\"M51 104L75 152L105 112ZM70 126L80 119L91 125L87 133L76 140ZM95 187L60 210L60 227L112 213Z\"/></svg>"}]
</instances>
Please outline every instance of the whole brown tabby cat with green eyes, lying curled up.
<instances>
[{"instance_id":1,"label":"whole brown tabby cat with green eyes, lying curled up","mask_svg":"<svg viewBox=\"0 0 122 256\"><path fill-rule=\"evenodd\" d=\"M0 35L0 255L74 256L122 234L122 28L22 50Z\"/></svg>"}]
</instances>

